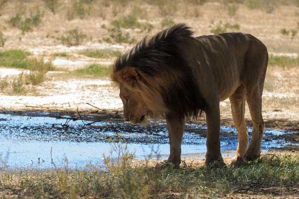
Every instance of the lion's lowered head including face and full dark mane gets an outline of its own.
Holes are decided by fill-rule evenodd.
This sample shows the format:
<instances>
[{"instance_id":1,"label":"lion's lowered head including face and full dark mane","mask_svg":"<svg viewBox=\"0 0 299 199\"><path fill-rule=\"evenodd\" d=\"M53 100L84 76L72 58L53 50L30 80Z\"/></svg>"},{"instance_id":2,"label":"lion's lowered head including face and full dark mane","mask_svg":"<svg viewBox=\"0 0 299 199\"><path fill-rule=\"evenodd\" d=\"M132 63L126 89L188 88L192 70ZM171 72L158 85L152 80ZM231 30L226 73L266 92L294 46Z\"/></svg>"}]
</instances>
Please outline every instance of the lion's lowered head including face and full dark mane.
<instances>
[{"instance_id":1,"label":"lion's lowered head including face and full dark mane","mask_svg":"<svg viewBox=\"0 0 299 199\"><path fill-rule=\"evenodd\" d=\"M116 59L111 79L120 88L125 120L145 124L148 116L196 117L205 108L181 48L191 35L189 27L177 24L151 39L144 38Z\"/></svg>"}]
</instances>

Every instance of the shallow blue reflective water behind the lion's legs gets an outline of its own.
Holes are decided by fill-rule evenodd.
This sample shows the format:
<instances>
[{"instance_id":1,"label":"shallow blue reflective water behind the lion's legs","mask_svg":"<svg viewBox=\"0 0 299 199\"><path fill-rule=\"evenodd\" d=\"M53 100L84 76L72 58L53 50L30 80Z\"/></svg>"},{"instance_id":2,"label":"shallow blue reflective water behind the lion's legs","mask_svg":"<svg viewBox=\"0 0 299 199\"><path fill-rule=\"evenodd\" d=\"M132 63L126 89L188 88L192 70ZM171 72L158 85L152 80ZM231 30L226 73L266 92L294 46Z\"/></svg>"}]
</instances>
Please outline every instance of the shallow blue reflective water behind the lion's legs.
<instances>
[{"instance_id":1,"label":"shallow blue reflective water behind the lion's legs","mask_svg":"<svg viewBox=\"0 0 299 199\"><path fill-rule=\"evenodd\" d=\"M7 156L9 168L14 167L85 167L87 164L103 164L103 153L109 154L113 143L123 140L136 158L167 159L169 141L166 124L150 121L148 126L132 125L129 122L96 122L72 120L70 117L18 116L0 114L0 154ZM248 129L251 132L251 129ZM284 140L273 139L289 132L265 130L262 150L283 147ZM232 157L238 137L236 129L221 127L221 152ZM182 142L182 157L203 159L206 152L206 127L187 123ZM113 157L116 157L113 153ZM3 166L3 165L2 165ZM0 162L1 167L1 162Z\"/></svg>"}]
</instances>

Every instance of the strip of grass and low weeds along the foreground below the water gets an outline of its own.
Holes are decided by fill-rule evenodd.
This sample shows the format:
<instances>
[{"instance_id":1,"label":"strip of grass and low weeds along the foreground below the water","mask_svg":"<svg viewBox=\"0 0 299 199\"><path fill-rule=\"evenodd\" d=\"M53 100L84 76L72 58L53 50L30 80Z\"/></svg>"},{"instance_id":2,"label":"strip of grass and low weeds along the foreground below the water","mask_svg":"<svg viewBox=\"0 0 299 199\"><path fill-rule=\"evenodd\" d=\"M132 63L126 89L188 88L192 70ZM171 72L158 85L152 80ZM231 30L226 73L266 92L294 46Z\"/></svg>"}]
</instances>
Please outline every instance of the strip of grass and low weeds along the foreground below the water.
<instances>
[{"instance_id":1,"label":"strip of grass and low weeds along the foreground below the water","mask_svg":"<svg viewBox=\"0 0 299 199\"><path fill-rule=\"evenodd\" d=\"M298 155L265 155L247 164L218 169L194 168L186 163L181 169L171 165L152 168L147 164L134 166L134 153L128 151L126 144L113 142L111 146L111 153L119 155L112 158L106 154L104 170L88 165L89 171L72 171L67 158L64 168L52 171L7 172L2 169L0 194L13 192L19 198L148 199L173 198L173 193L177 193L175 198L224 198L247 189L264 190L260 195L265 197L277 190L280 190L277 196L298 195ZM0 154L0 169L5 168L9 158L2 156Z\"/></svg>"}]
</instances>

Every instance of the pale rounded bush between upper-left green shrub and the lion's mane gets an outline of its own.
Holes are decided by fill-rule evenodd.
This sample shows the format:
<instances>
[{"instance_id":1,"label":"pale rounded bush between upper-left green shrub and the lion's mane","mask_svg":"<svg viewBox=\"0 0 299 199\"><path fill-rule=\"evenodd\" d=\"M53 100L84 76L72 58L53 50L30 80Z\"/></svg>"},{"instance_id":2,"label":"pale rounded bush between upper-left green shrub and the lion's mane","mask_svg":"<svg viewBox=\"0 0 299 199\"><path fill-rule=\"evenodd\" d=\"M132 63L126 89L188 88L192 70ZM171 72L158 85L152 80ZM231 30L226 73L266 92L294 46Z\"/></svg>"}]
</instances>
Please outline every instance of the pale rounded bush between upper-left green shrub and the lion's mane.
<instances>
[{"instance_id":1,"label":"pale rounded bush between upper-left green shrub and the lion's mane","mask_svg":"<svg viewBox=\"0 0 299 199\"><path fill-rule=\"evenodd\" d=\"M61 42L67 46L78 46L84 42L87 37L79 28L69 30L61 37Z\"/></svg>"}]
</instances>

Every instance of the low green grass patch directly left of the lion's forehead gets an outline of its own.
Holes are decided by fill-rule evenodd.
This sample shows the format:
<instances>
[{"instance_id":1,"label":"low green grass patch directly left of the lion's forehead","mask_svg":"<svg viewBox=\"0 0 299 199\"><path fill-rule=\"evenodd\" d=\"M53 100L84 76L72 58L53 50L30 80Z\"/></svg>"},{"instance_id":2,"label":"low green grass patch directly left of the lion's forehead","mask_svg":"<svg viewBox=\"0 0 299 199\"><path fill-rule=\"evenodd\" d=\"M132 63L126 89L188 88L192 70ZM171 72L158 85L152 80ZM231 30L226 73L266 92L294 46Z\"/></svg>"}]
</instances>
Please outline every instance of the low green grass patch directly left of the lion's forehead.
<instances>
[{"instance_id":1,"label":"low green grass patch directly left of the lion's forehead","mask_svg":"<svg viewBox=\"0 0 299 199\"><path fill-rule=\"evenodd\" d=\"M77 69L74 72L72 72L73 75L89 75L89 76L95 76L95 77L103 77L107 76L109 72L109 68L98 65L98 64L92 64L86 68Z\"/></svg>"}]
</instances>

